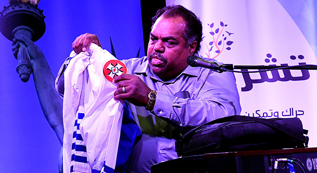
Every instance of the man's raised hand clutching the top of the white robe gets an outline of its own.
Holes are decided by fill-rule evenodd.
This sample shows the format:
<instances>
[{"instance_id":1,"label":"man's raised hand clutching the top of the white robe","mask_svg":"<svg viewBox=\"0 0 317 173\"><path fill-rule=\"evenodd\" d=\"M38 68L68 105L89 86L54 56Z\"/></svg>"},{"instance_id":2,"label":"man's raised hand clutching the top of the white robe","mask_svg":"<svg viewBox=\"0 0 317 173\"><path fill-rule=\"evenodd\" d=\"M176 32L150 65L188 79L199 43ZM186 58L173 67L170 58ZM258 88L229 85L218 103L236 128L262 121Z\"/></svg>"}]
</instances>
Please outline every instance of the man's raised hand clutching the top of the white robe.
<instances>
[{"instance_id":1,"label":"man's raised hand clutching the top of the white robe","mask_svg":"<svg viewBox=\"0 0 317 173\"><path fill-rule=\"evenodd\" d=\"M94 34L82 34L76 38L76 40L72 43L73 50L78 54L80 52L84 52L89 48L91 43L95 43L101 47L99 39Z\"/></svg>"}]
</instances>

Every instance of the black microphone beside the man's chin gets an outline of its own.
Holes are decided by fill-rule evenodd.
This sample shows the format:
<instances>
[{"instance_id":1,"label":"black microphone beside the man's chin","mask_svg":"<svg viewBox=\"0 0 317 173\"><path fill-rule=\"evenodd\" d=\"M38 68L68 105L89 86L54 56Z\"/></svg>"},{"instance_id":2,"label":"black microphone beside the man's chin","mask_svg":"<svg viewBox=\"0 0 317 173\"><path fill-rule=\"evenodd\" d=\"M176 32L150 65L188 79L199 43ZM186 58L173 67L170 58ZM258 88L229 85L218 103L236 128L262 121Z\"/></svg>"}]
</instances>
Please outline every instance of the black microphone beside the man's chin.
<instances>
[{"instance_id":1,"label":"black microphone beside the man's chin","mask_svg":"<svg viewBox=\"0 0 317 173\"><path fill-rule=\"evenodd\" d=\"M208 68L208 69L211 69L211 70L216 71L218 73L227 71L226 68L224 68L223 66L217 64L216 62L212 62L212 61L210 62L210 61L203 60L203 59L199 58L196 55L188 56L187 64L192 66L192 67Z\"/></svg>"}]
</instances>

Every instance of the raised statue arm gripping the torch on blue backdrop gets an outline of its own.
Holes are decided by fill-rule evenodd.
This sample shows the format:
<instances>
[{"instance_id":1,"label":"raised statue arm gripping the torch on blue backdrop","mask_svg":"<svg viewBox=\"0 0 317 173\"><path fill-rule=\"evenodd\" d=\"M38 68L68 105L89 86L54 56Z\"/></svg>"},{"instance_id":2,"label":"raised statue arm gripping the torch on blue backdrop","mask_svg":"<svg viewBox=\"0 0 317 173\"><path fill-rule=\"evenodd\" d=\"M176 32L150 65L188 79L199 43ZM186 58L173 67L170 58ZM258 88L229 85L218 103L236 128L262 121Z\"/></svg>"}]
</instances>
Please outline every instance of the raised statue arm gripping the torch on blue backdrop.
<instances>
[{"instance_id":1,"label":"raised statue arm gripping the torch on blue backdrop","mask_svg":"<svg viewBox=\"0 0 317 173\"><path fill-rule=\"evenodd\" d=\"M16 41L22 42L25 46L21 46ZM41 49L27 37L15 38L12 45L14 56L25 47L31 58L34 83L43 113L62 144L64 134L62 99L55 90L55 78Z\"/></svg>"}]
</instances>

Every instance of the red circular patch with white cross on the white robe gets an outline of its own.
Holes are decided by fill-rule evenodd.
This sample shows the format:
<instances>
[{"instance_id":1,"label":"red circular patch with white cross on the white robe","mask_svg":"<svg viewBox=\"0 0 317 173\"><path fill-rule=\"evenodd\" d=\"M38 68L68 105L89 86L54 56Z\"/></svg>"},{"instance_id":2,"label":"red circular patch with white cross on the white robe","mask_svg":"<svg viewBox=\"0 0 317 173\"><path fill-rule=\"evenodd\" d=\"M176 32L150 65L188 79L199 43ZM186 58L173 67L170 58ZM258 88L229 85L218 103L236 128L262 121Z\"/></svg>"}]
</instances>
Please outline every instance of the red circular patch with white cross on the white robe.
<instances>
[{"instance_id":1,"label":"red circular patch with white cross on the white robe","mask_svg":"<svg viewBox=\"0 0 317 173\"><path fill-rule=\"evenodd\" d=\"M106 62L104 66L104 75L108 81L112 82L114 78L122 74L127 74L127 67L123 62L119 60L110 60Z\"/></svg>"}]
</instances>

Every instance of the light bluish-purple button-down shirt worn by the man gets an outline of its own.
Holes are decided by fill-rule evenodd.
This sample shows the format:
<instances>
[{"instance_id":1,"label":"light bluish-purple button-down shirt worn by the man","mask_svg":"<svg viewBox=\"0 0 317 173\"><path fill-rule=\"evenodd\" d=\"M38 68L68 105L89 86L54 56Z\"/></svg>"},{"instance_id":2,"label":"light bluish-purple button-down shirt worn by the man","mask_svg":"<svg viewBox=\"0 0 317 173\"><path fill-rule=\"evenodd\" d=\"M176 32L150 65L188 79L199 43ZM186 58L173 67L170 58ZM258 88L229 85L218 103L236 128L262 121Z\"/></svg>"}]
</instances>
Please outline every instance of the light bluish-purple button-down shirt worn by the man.
<instances>
[{"instance_id":1,"label":"light bluish-purple button-down shirt worn by the man","mask_svg":"<svg viewBox=\"0 0 317 173\"><path fill-rule=\"evenodd\" d=\"M151 112L129 104L143 133L134 147L129 167L131 173L150 173L151 165L177 158L175 138L181 131L241 112L235 77L231 72L217 73L187 66L175 79L162 81L149 68L147 57L122 61L128 74L140 77L148 87L157 91ZM62 76L63 67L58 78ZM59 87L57 83L57 90Z\"/></svg>"}]
</instances>

